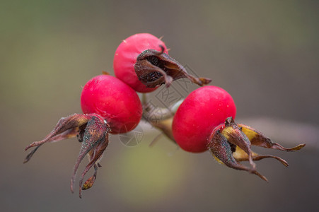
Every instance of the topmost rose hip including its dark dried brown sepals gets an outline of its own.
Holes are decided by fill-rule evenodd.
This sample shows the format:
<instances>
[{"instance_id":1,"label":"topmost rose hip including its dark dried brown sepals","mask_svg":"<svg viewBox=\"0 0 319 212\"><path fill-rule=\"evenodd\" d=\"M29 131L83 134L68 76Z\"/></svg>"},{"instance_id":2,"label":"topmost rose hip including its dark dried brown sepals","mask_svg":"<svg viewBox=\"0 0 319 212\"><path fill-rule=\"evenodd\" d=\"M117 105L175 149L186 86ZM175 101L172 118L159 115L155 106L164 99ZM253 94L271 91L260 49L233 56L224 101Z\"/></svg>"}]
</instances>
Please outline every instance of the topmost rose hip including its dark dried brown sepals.
<instances>
[{"instance_id":1,"label":"topmost rose hip including its dark dried brown sepals","mask_svg":"<svg viewBox=\"0 0 319 212\"><path fill-rule=\"evenodd\" d=\"M128 37L117 47L113 62L115 76L134 90L149 93L158 86L170 86L179 78L188 78L204 86L209 78L196 78L168 55L166 45L157 37L141 33Z\"/></svg>"}]
</instances>

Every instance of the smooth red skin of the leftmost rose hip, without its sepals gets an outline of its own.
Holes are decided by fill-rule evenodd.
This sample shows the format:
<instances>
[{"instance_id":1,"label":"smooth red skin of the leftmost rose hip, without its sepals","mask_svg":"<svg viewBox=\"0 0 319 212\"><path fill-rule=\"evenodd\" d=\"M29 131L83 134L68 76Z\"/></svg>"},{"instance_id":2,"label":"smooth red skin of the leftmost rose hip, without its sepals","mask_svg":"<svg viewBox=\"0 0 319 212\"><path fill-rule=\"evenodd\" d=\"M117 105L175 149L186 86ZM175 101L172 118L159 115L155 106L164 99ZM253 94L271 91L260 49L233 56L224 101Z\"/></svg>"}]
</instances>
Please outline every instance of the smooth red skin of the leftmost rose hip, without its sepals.
<instances>
[{"instance_id":1,"label":"smooth red skin of the leftmost rose hip, without its sepals","mask_svg":"<svg viewBox=\"0 0 319 212\"><path fill-rule=\"evenodd\" d=\"M81 93L83 113L103 117L112 134L134 129L141 120L142 107L137 93L118 78L99 75L86 83Z\"/></svg>"}]
</instances>

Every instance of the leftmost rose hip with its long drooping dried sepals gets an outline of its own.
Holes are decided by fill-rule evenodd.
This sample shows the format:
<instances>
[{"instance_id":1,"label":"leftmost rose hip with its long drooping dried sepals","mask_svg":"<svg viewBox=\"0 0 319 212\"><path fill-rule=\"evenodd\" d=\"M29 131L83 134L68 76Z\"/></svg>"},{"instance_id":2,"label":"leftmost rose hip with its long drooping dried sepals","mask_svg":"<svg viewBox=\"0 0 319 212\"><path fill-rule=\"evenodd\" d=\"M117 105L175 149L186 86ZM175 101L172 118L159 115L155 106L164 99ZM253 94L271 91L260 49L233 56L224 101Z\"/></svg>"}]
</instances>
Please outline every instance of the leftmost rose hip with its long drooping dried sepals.
<instances>
[{"instance_id":1,"label":"leftmost rose hip with its long drooping dried sepals","mask_svg":"<svg viewBox=\"0 0 319 212\"><path fill-rule=\"evenodd\" d=\"M25 148L35 147L24 163L27 163L44 143L62 141L77 136L82 143L71 177L71 192L74 192L76 172L83 158L88 155L89 163L79 179L79 196L82 190L93 186L98 167L108 147L110 133L130 131L139 124L142 114L141 102L137 93L119 79L100 75L93 77L84 86L81 94L81 107L84 114L72 114L59 120L54 129L42 141L31 143ZM94 167L94 172L83 184L84 175Z\"/></svg>"}]
</instances>

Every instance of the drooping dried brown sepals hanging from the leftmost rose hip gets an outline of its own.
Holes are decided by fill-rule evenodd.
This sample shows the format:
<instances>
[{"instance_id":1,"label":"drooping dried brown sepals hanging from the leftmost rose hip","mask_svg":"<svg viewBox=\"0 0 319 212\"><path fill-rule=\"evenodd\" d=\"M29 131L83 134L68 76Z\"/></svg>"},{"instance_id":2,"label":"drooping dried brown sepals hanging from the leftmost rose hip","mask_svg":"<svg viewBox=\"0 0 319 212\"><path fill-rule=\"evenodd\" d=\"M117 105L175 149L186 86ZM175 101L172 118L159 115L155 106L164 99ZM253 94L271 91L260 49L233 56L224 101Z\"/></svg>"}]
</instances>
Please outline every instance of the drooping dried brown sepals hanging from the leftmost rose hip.
<instances>
[{"instance_id":1,"label":"drooping dried brown sepals hanging from the leftmost rose hip","mask_svg":"<svg viewBox=\"0 0 319 212\"><path fill-rule=\"evenodd\" d=\"M81 198L82 182L84 175L94 166L94 174L90 177L83 185L83 189L89 189L93 186L96 179L96 172L100 165L98 160L103 155L105 148L108 146L108 135L110 133L110 126L106 121L100 117L98 114L73 114L69 117L64 117L59 120L57 126L51 131L49 135L45 137L42 141L37 141L31 143L25 148L35 147L33 151L28 153L23 163L27 163L33 156L37 148L42 146L44 143L50 143L55 141L62 141L63 139L69 139L77 136L78 140L82 143L81 150L74 165L74 172L71 177L71 192L73 193L74 179L76 176L76 171L85 155L88 155L89 163L83 170L80 177L79 185L79 196Z\"/></svg>"}]
</instances>

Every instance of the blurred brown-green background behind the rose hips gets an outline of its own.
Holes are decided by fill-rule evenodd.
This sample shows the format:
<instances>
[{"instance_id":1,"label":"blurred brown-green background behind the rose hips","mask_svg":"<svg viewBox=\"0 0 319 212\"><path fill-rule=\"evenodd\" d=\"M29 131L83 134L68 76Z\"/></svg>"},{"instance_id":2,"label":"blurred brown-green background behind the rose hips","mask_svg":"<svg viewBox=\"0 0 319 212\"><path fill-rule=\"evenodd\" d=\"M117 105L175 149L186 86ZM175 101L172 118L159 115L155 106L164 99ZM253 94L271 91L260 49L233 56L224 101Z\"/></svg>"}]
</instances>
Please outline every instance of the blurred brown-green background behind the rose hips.
<instances>
[{"instance_id":1,"label":"blurred brown-green background behind the rose hips","mask_svg":"<svg viewBox=\"0 0 319 212\"><path fill-rule=\"evenodd\" d=\"M1 211L318 210L318 8L304 0L2 1ZM69 191L76 139L48 143L23 165L25 146L81 112L81 86L101 71L113 74L115 49L135 33L164 36L172 57L231 93L238 122L306 148L257 148L290 165L257 162L265 183L165 137L149 147L160 132L142 124L137 146L111 136L83 199Z\"/></svg>"}]
</instances>

